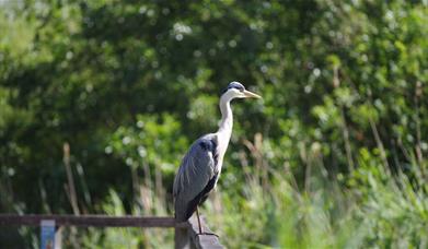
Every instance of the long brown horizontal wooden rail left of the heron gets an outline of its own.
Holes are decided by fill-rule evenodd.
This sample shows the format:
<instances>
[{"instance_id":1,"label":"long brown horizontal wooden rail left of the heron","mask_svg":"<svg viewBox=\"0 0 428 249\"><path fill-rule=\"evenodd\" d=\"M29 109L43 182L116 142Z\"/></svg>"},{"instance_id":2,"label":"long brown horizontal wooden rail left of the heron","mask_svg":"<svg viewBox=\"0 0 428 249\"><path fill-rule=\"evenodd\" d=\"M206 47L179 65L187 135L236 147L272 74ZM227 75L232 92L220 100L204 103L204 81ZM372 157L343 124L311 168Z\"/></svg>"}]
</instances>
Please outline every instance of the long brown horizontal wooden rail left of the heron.
<instances>
[{"instance_id":1,"label":"long brown horizontal wooden rail left of the heron","mask_svg":"<svg viewBox=\"0 0 428 249\"><path fill-rule=\"evenodd\" d=\"M38 215L0 214L0 226L38 226L42 220L55 220L57 226L95 227L186 227L173 217L108 216L108 215Z\"/></svg>"}]
</instances>

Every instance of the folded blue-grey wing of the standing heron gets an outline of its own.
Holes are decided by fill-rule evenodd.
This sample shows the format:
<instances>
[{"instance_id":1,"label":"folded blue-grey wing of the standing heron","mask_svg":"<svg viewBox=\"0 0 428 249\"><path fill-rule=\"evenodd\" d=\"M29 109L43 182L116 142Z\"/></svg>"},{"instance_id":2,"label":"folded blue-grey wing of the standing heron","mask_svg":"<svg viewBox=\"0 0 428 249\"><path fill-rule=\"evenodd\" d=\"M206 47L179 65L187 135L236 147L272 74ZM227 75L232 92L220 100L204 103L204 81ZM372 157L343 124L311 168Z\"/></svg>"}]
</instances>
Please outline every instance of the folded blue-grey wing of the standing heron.
<instances>
[{"instance_id":1,"label":"folded blue-grey wing of the standing heron","mask_svg":"<svg viewBox=\"0 0 428 249\"><path fill-rule=\"evenodd\" d=\"M174 180L175 216L186 221L217 181L217 135L198 139L182 161Z\"/></svg>"}]
</instances>

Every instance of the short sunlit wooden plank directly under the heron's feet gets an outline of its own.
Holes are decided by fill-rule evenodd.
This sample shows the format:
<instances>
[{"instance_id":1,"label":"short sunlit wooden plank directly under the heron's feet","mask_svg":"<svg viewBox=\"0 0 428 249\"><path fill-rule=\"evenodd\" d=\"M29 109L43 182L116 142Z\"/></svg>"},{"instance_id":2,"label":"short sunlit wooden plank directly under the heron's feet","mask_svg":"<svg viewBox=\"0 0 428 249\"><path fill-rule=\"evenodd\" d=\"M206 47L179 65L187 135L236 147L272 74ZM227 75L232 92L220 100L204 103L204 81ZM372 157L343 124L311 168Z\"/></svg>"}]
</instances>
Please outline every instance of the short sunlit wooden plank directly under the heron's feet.
<instances>
[{"instance_id":1,"label":"short sunlit wooden plank directly under the heron's feet","mask_svg":"<svg viewBox=\"0 0 428 249\"><path fill-rule=\"evenodd\" d=\"M203 233L212 234L212 235L200 235L199 226L196 215L193 215L188 222L190 223L189 236L193 240L194 246L197 249L223 249L224 247L220 244L219 237L213 235L212 230L207 226L207 222L204 217L200 217L200 226Z\"/></svg>"}]
</instances>

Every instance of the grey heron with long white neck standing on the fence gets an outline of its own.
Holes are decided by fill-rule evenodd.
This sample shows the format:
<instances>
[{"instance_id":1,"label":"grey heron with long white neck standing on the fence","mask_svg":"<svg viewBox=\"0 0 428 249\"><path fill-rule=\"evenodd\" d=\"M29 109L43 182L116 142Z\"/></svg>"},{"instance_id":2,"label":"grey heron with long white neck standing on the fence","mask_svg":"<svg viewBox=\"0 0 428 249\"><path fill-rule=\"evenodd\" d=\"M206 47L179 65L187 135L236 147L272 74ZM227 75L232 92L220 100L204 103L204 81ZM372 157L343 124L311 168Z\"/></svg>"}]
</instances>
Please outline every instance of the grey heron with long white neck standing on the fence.
<instances>
[{"instance_id":1,"label":"grey heron with long white neck standing on the fence","mask_svg":"<svg viewBox=\"0 0 428 249\"><path fill-rule=\"evenodd\" d=\"M196 211L199 234L198 205L216 187L221 173L224 153L232 135L233 115L230 103L234 98L261 98L239 83L231 82L220 97L221 121L216 133L200 137L183 157L174 179L173 195L176 222L187 221Z\"/></svg>"}]
</instances>

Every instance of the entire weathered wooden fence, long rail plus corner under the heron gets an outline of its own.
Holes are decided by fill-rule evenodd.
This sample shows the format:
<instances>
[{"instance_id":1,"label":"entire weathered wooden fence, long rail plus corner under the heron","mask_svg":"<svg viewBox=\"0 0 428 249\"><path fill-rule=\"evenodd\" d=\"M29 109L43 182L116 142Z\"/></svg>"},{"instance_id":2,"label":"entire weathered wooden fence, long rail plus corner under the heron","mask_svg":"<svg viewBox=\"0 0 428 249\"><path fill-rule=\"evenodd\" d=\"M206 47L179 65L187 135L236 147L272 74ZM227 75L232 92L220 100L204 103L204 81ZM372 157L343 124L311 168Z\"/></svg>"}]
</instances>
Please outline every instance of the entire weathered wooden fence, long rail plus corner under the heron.
<instances>
[{"instance_id":1,"label":"entire weathered wooden fence, long rail plus corner under the heron","mask_svg":"<svg viewBox=\"0 0 428 249\"><path fill-rule=\"evenodd\" d=\"M175 248L223 248L217 236L198 234L195 217L190 217L188 222L177 224L173 217L0 214L0 226L41 226L43 221L55 221L58 228L63 226L175 228ZM205 218L201 221L201 226L204 232L212 233L208 228ZM60 245L56 245L56 248L60 247Z\"/></svg>"}]
</instances>

